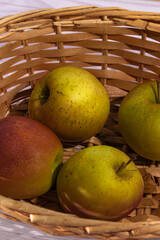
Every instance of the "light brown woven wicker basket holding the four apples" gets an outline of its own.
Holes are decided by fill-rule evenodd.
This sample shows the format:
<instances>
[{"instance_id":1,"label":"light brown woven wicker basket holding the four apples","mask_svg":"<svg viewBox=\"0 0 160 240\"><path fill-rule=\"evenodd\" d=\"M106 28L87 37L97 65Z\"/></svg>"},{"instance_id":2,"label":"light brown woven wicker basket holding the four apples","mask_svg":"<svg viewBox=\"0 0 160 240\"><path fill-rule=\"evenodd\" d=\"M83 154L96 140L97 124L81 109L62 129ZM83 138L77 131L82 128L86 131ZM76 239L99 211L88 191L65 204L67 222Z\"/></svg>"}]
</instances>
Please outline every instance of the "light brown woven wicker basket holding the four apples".
<instances>
[{"instance_id":1,"label":"light brown woven wicker basket holding the four apples","mask_svg":"<svg viewBox=\"0 0 160 240\"><path fill-rule=\"evenodd\" d=\"M27 116L34 84L64 65L88 69L106 87L111 101L102 131L80 143L65 143L64 161L82 148L112 145L129 156L117 121L118 106L137 84L160 79L160 14L121 8L81 6L40 9L0 19L0 118ZM82 219L61 209L55 189L29 200L0 196L3 217L52 235L98 239L160 237L160 162L137 156L145 182L137 209L119 222Z\"/></svg>"}]
</instances>

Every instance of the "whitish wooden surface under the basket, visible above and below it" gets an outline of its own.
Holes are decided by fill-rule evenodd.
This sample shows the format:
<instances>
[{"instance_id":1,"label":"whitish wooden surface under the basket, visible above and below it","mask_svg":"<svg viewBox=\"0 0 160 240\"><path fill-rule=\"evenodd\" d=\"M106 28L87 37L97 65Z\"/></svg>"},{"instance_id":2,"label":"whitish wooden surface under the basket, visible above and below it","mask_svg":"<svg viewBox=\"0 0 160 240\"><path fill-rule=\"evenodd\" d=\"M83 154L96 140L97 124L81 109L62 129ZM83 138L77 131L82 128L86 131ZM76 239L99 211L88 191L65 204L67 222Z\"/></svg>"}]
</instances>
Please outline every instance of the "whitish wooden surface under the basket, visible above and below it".
<instances>
[{"instance_id":1,"label":"whitish wooden surface under the basket, visible above and below it","mask_svg":"<svg viewBox=\"0 0 160 240\"><path fill-rule=\"evenodd\" d=\"M96 5L134 11L160 12L160 0L0 0L0 17L40 8ZM0 218L0 240L77 240L45 234L29 225ZM81 238L82 239L82 238Z\"/></svg>"}]
</instances>

